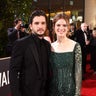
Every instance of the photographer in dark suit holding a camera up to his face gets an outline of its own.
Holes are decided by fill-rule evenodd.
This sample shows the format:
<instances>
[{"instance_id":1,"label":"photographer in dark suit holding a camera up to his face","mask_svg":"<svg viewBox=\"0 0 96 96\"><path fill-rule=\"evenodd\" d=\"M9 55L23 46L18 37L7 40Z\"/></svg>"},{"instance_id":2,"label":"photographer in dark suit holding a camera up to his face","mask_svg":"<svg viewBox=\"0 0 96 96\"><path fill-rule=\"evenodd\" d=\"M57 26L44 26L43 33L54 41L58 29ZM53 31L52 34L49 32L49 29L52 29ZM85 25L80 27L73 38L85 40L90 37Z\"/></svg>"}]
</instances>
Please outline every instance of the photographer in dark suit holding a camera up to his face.
<instances>
[{"instance_id":1,"label":"photographer in dark suit holding a camera up to his face","mask_svg":"<svg viewBox=\"0 0 96 96\"><path fill-rule=\"evenodd\" d=\"M26 29L25 25L23 25L21 18L16 18L14 20L14 27L8 28L8 30L7 30L7 33L8 33L7 55L8 56L11 56L13 43L17 39L20 39L20 38L28 35L28 33L26 33L25 29Z\"/></svg>"}]
</instances>

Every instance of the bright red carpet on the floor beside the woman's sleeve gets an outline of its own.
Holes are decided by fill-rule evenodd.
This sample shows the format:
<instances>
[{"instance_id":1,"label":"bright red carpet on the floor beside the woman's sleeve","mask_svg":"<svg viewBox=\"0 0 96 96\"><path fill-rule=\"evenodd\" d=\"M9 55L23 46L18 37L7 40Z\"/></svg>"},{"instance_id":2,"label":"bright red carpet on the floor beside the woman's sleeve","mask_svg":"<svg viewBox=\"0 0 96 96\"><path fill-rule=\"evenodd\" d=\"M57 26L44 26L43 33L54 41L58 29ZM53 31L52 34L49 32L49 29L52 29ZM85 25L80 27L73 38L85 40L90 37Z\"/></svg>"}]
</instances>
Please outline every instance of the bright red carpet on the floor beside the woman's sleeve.
<instances>
[{"instance_id":1,"label":"bright red carpet on the floor beside the woman's sleeve","mask_svg":"<svg viewBox=\"0 0 96 96\"><path fill-rule=\"evenodd\" d=\"M86 66L87 73L82 81L81 96L96 96L96 74L90 70L90 64Z\"/></svg>"}]
</instances>

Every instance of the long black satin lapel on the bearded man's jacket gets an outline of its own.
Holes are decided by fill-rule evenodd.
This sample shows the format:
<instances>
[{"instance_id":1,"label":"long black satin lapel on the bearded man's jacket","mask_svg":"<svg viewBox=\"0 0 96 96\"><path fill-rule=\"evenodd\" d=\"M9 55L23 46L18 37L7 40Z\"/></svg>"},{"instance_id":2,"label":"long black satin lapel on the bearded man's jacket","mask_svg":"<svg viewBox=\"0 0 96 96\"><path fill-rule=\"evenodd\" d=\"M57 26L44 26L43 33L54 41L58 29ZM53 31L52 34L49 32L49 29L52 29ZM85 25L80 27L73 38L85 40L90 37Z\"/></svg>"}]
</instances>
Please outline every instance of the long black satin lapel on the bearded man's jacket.
<instances>
[{"instance_id":1,"label":"long black satin lapel on the bearded man's jacket","mask_svg":"<svg viewBox=\"0 0 96 96\"><path fill-rule=\"evenodd\" d=\"M35 61L36 61L37 67L38 67L39 74L41 76L40 61L39 61L39 55L38 55L38 52L37 52L37 49L36 49L36 45L35 45L35 43L32 39L31 39L31 43L32 44L30 44L30 49L33 53L33 56L35 58Z\"/></svg>"}]
</instances>

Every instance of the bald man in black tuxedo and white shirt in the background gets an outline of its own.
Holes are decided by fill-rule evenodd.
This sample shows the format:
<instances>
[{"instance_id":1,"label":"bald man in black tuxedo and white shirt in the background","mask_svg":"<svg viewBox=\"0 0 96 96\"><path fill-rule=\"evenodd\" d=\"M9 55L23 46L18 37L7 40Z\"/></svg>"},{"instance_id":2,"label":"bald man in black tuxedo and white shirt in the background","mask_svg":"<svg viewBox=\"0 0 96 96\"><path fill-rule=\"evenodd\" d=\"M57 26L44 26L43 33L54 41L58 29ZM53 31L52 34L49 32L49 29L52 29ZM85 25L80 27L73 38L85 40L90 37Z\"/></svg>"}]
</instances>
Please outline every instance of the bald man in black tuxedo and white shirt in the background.
<instances>
[{"instance_id":1,"label":"bald man in black tuxedo and white shirt in the background","mask_svg":"<svg viewBox=\"0 0 96 96\"><path fill-rule=\"evenodd\" d=\"M76 31L76 41L81 45L82 50L82 73L86 72L86 57L87 57L87 46L90 43L90 32L87 30L88 25L82 23L80 29Z\"/></svg>"}]
</instances>

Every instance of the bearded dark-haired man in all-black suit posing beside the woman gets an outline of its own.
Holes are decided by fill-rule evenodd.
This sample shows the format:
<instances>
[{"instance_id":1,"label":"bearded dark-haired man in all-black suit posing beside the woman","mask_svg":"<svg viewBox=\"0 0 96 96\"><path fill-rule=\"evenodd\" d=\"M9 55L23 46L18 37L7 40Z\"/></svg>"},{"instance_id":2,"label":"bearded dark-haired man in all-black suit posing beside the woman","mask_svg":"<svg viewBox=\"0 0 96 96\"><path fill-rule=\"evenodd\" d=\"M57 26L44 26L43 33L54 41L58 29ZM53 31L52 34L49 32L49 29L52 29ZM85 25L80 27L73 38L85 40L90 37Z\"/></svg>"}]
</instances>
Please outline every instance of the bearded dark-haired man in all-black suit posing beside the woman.
<instances>
[{"instance_id":1,"label":"bearded dark-haired man in all-black suit posing beside the woman","mask_svg":"<svg viewBox=\"0 0 96 96\"><path fill-rule=\"evenodd\" d=\"M43 39L47 29L44 11L35 10L29 20L32 32L15 42L9 68L12 96L47 96L50 43Z\"/></svg>"}]
</instances>

